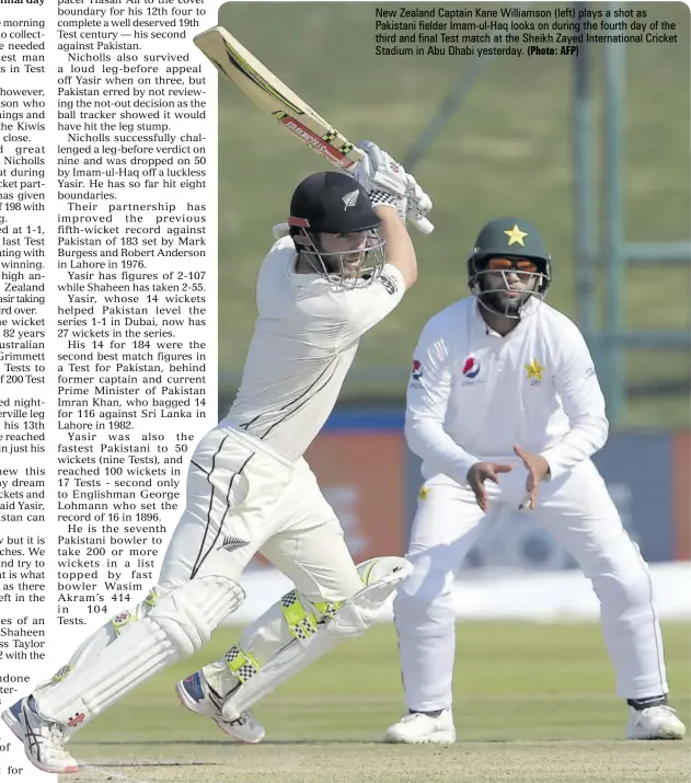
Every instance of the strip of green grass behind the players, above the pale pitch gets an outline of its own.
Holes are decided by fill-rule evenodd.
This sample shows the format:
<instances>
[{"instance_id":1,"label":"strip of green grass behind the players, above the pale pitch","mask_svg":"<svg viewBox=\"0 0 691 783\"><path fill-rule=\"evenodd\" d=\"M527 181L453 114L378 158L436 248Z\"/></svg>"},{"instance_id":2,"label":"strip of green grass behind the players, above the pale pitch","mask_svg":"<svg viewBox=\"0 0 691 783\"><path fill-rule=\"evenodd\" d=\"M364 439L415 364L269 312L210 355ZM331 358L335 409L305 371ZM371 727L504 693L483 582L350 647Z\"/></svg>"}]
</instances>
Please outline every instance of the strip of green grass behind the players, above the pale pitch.
<instances>
[{"instance_id":1,"label":"strip of green grass behind the players, above the pale pitch","mask_svg":"<svg viewBox=\"0 0 691 783\"><path fill-rule=\"evenodd\" d=\"M687 717L690 632L684 624L665 627L673 703ZM204 655L157 676L87 726L74 752L106 739L124 746L218 739L210 721L178 707L173 686L235 637L232 629L217 632ZM459 735L468 740L608 740L620 738L625 723L595 624L459 625L454 698ZM269 740L372 741L402 709L395 633L381 625L295 677L256 714Z\"/></svg>"}]
</instances>

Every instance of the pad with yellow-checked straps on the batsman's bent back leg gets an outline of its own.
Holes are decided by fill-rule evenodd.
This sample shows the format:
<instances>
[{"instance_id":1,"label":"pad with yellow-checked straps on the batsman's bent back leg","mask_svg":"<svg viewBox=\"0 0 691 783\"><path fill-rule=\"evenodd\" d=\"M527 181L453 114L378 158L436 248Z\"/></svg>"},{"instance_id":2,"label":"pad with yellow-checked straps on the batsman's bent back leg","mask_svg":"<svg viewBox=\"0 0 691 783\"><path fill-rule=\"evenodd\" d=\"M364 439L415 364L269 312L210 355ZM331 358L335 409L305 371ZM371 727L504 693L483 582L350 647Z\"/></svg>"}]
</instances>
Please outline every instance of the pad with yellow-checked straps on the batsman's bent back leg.
<instances>
[{"instance_id":1,"label":"pad with yellow-checked straps on the batsman's bent back leg","mask_svg":"<svg viewBox=\"0 0 691 783\"><path fill-rule=\"evenodd\" d=\"M306 601L297 592L288 592L257 620L254 633L250 634L246 643L241 638L240 647L228 650L226 666L234 675L235 683L240 680L241 684L223 703L226 721L237 721L245 710L329 653L342 638L365 633L377 620L389 596L411 574L413 566L403 557L375 557L357 568L365 587L353 598L338 604L313 604L320 611L320 617L316 617L314 612L306 611ZM326 609L322 611L324 607ZM276 620L281 615L284 631L278 634ZM268 629L272 631L267 634ZM244 652L253 646L266 649L265 644L254 643L254 636L269 636L276 642L273 656L264 664ZM209 668L217 667L215 664ZM204 671L207 675L206 668Z\"/></svg>"}]
</instances>

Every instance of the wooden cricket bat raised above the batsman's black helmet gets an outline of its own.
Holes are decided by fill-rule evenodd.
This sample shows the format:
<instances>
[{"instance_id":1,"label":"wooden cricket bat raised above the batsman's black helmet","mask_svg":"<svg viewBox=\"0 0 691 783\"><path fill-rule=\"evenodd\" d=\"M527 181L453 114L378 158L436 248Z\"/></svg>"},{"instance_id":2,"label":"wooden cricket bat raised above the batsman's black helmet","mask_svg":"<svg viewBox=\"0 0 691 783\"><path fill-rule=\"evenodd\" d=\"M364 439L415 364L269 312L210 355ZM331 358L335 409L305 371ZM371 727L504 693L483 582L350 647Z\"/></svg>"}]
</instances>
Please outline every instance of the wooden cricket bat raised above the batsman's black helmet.
<instances>
[{"instance_id":1,"label":"wooden cricket bat raised above the batsman's black helmet","mask_svg":"<svg viewBox=\"0 0 691 783\"><path fill-rule=\"evenodd\" d=\"M362 159L365 153L360 149L284 84L224 27L211 27L193 41L220 73L318 154L346 171ZM423 233L434 230L424 215L411 222Z\"/></svg>"}]
</instances>

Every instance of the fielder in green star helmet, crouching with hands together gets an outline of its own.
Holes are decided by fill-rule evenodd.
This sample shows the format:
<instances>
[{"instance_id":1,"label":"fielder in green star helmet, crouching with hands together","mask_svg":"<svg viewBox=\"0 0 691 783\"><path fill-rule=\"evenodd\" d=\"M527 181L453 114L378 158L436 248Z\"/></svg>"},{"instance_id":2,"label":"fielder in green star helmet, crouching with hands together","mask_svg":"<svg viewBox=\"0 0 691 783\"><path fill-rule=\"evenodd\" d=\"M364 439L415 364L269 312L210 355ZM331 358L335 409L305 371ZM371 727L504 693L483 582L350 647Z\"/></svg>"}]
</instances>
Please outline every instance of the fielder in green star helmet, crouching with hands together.
<instances>
[{"instance_id":1,"label":"fielder in green star helmet, crouching with hands together","mask_svg":"<svg viewBox=\"0 0 691 783\"><path fill-rule=\"evenodd\" d=\"M405 435L423 460L408 560L394 618L408 713L390 742L456 740L451 704L454 572L506 508L537 516L578 562L601 606L626 737L680 739L667 704L648 571L590 461L608 436L586 343L544 303L551 263L537 229L500 218L468 260L472 296L426 324L407 390Z\"/></svg>"}]
</instances>

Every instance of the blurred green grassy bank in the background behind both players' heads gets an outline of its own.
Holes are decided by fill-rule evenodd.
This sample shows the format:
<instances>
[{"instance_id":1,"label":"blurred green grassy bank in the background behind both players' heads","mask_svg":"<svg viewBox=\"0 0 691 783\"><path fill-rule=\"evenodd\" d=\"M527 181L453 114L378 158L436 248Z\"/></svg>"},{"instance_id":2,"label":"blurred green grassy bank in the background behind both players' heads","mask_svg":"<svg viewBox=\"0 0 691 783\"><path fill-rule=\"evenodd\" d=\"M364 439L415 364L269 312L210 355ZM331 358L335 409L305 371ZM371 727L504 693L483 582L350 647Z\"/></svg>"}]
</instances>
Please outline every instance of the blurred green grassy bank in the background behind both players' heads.
<instances>
[{"instance_id":1,"label":"blurred green grassy bank in the background behind both players' heads","mask_svg":"<svg viewBox=\"0 0 691 783\"><path fill-rule=\"evenodd\" d=\"M372 138L404 158L469 62L377 58L375 7L228 3L220 21L349 138ZM680 43L626 46L625 237L688 240L689 11L668 2L636 8L645 9L650 21L676 22ZM594 60L594 120L600 128L600 50ZM554 258L550 302L577 319L572 85L566 58L504 58L488 65L415 171L435 201L437 229L430 237L415 235L419 281L362 341L345 399L403 399L419 330L434 312L467 293L465 256L480 227L497 215L522 215L541 227ZM219 360L223 372L238 373L255 316L256 270L270 244L272 224L285 218L295 185L324 163L274 127L233 85L222 83L220 91ZM600 151L598 141L598 172ZM601 211L599 199L595 210ZM626 325L688 330L690 290L688 267L630 269L623 295ZM601 316L601 301L598 311ZM688 352L626 353L631 384L684 380L690 370ZM630 405L624 424L688 424L688 405L675 398L663 402L655 401L652 417L646 401Z\"/></svg>"}]
</instances>

